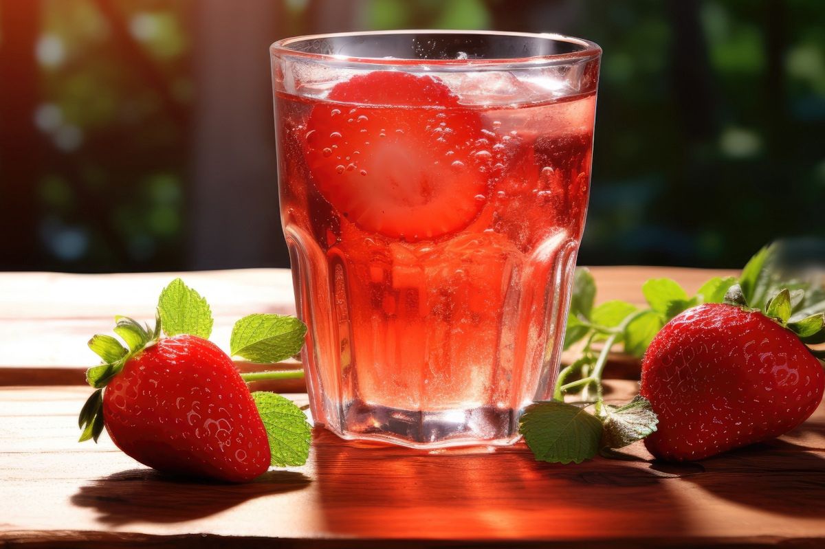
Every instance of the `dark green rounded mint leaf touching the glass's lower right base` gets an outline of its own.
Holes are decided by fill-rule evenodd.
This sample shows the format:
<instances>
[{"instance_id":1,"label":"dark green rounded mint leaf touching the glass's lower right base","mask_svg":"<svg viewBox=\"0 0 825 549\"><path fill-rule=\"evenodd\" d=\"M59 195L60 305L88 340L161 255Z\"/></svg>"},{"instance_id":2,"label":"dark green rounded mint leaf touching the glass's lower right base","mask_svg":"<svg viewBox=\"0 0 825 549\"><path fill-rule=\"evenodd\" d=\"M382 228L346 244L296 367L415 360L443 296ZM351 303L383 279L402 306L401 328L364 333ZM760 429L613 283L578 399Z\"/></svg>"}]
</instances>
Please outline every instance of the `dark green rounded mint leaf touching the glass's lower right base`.
<instances>
[{"instance_id":1,"label":"dark green rounded mint leaf touching the glass's lower right base","mask_svg":"<svg viewBox=\"0 0 825 549\"><path fill-rule=\"evenodd\" d=\"M581 463L599 451L601 422L572 404L541 401L526 407L519 432L537 460Z\"/></svg>"}]
</instances>

